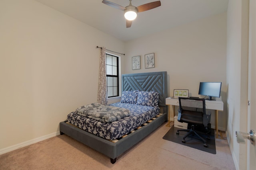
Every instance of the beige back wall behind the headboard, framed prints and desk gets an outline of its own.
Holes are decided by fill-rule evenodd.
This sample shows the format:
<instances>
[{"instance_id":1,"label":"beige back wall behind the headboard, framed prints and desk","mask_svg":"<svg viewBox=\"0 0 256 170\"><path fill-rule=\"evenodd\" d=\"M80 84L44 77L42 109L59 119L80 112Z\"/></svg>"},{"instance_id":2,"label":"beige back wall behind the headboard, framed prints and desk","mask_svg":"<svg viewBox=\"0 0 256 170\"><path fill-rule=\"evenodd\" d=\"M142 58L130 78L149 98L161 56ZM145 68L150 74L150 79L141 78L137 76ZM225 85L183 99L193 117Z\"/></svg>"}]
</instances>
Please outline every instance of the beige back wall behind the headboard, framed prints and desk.
<instances>
[{"instance_id":1,"label":"beige back wall behind the headboard, framed prints and desk","mask_svg":"<svg viewBox=\"0 0 256 170\"><path fill-rule=\"evenodd\" d=\"M222 82L226 105L226 13L128 41L125 53L126 73L167 71L168 96L174 89L188 89L189 96L198 96L199 82ZM148 53L155 53L155 68L145 68ZM132 70L132 57L138 55L141 69ZM211 123L215 127L215 111ZM226 130L226 109L219 112L218 124Z\"/></svg>"}]
</instances>

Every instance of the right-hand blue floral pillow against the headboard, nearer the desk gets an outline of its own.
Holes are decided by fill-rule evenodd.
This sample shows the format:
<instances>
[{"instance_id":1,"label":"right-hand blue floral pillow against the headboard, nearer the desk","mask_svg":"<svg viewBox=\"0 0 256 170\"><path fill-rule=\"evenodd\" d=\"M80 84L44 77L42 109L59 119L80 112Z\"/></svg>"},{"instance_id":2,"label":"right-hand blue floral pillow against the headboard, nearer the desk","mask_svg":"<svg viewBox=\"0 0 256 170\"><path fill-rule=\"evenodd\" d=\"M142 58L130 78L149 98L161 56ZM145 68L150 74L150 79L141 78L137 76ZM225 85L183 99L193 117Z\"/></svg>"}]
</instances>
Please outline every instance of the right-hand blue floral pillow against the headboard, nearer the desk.
<instances>
[{"instance_id":1,"label":"right-hand blue floral pillow against the headboard, nearer the desk","mask_svg":"<svg viewBox=\"0 0 256 170\"><path fill-rule=\"evenodd\" d=\"M137 104L142 106L155 106L156 92L138 92Z\"/></svg>"}]
</instances>

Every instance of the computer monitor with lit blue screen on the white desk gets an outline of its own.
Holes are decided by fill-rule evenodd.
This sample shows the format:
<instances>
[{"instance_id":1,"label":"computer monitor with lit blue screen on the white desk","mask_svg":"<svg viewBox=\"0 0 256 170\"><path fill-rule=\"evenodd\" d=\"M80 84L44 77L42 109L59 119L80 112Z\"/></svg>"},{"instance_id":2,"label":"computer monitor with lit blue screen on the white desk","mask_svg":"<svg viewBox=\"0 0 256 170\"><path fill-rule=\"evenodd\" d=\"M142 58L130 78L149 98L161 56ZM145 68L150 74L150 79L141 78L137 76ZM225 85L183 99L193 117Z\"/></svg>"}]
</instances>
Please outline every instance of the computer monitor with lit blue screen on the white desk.
<instances>
[{"instance_id":1,"label":"computer monitor with lit blue screen on the white desk","mask_svg":"<svg viewBox=\"0 0 256 170\"><path fill-rule=\"evenodd\" d=\"M209 96L206 100L214 100L212 97L220 97L221 82L200 82L199 95Z\"/></svg>"}]
</instances>

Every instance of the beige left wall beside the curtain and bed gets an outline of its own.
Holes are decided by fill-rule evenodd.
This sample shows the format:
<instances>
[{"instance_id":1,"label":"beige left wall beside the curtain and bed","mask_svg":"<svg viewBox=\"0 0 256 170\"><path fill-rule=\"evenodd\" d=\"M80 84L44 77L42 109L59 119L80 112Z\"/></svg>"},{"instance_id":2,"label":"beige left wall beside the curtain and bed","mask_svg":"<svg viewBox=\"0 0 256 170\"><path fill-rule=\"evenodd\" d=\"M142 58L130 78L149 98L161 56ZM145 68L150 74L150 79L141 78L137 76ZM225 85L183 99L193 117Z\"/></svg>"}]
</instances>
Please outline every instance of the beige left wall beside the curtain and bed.
<instances>
[{"instance_id":1,"label":"beige left wall beside the curtain and bed","mask_svg":"<svg viewBox=\"0 0 256 170\"><path fill-rule=\"evenodd\" d=\"M57 133L97 100L97 45L124 53L122 41L34 0L0 1L0 150Z\"/></svg>"}]
</instances>

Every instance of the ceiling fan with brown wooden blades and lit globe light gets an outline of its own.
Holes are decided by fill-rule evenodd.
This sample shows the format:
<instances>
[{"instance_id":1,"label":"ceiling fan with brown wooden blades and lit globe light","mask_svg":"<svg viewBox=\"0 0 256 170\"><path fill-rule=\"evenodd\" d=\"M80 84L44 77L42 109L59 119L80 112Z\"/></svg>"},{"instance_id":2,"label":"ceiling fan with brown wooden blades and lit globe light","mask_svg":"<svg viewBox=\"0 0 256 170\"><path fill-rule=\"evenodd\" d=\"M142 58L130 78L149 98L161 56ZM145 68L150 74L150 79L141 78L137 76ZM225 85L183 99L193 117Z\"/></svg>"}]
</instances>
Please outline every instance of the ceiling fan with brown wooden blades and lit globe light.
<instances>
[{"instance_id":1,"label":"ceiling fan with brown wooden blades and lit globe light","mask_svg":"<svg viewBox=\"0 0 256 170\"><path fill-rule=\"evenodd\" d=\"M155 2L150 2L147 4L143 4L143 5L140 5L137 7L132 5L132 0L130 0L130 4L126 7L120 6L118 4L115 4L115 3L107 1L107 0L103 0L102 3L104 3L108 6L111 6L113 8L116 8L118 10L124 11L124 17L126 18L126 28L131 27L132 21L137 17L138 12L151 10L153 8L161 6L160 0L155 1Z\"/></svg>"}]
</instances>

